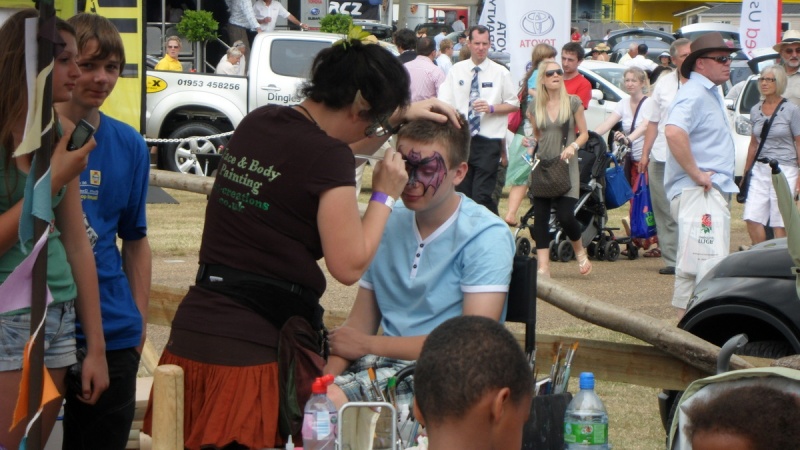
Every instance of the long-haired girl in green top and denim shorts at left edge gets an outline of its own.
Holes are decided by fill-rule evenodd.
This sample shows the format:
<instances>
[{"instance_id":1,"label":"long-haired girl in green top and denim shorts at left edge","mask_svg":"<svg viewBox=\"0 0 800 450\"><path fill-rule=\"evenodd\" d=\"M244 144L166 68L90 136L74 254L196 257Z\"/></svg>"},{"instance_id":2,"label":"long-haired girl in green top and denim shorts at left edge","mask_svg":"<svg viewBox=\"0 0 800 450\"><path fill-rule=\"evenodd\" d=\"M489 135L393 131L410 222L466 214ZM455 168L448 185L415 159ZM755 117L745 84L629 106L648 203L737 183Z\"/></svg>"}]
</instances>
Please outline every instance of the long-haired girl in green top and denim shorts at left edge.
<instances>
[{"instance_id":1,"label":"long-haired girl in green top and denim shorts at left edge","mask_svg":"<svg viewBox=\"0 0 800 450\"><path fill-rule=\"evenodd\" d=\"M0 284L27 256L19 242L19 223L22 216L25 181L34 168L32 154L12 157L22 141L27 116L25 86L25 53L20 50L24 42L25 19L38 16L36 10L27 9L11 16L0 28L0 73L5 75L5 86L0 94ZM53 71L53 102L70 99L75 80L80 76L76 64L78 53L75 32L66 22L56 24L65 46L56 56ZM64 124L64 138L53 149L50 161L51 191L55 220L48 236L47 284L53 302L47 308L44 363L56 388L64 392L67 368L75 364L75 313L80 316L87 334L88 353L83 362L82 391L80 398L94 403L108 387L108 369L105 360L105 341L100 324L100 299L97 291L97 272L94 256L83 226L78 174L88 161L94 140L84 147L68 152L68 136L72 124ZM32 242L23 243L27 250ZM73 268L80 268L71 270ZM17 448L28 419L11 427L22 378L23 348L29 337L30 308L10 306L15 298L0 298L0 448ZM24 304L24 303L23 303ZM61 407L61 399L49 402L42 419L42 442L47 441L50 430Z\"/></svg>"}]
</instances>

